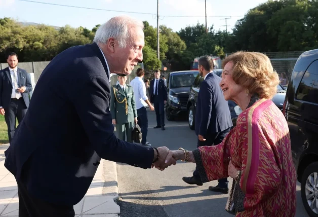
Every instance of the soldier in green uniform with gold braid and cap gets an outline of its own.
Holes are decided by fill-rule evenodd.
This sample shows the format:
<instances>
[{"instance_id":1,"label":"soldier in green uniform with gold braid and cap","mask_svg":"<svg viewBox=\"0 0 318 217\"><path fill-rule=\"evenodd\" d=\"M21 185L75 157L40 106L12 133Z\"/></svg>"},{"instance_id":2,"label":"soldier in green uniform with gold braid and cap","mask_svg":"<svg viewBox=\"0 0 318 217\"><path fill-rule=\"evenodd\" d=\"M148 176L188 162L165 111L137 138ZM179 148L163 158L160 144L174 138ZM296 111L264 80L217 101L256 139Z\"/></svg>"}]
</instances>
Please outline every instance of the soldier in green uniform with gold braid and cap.
<instances>
[{"instance_id":1,"label":"soldier in green uniform with gold braid and cap","mask_svg":"<svg viewBox=\"0 0 318 217\"><path fill-rule=\"evenodd\" d=\"M111 87L110 112L116 126L117 138L132 141L134 122L137 124L137 110L133 87L126 84L127 75L118 74L118 84Z\"/></svg>"}]
</instances>

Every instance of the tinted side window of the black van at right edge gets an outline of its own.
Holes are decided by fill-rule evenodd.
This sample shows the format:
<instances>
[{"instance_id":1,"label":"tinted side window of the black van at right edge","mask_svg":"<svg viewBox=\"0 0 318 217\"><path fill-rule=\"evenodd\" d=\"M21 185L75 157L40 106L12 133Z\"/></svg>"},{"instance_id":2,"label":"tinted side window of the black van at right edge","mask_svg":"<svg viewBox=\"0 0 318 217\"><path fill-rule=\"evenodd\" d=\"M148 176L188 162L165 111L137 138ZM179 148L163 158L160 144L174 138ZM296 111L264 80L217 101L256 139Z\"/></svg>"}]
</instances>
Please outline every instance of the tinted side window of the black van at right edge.
<instances>
[{"instance_id":1,"label":"tinted side window of the black van at right edge","mask_svg":"<svg viewBox=\"0 0 318 217\"><path fill-rule=\"evenodd\" d=\"M313 61L304 74L296 98L318 103L318 60Z\"/></svg>"}]
</instances>

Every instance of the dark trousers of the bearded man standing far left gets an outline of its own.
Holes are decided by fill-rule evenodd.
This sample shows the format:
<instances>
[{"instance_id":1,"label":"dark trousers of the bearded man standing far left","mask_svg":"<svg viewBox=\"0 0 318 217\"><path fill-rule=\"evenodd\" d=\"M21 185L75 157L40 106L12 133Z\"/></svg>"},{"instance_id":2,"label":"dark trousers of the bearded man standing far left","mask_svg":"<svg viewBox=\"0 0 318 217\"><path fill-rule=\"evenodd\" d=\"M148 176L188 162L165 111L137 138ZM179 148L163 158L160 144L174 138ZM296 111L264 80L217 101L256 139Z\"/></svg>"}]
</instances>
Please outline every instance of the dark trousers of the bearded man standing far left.
<instances>
[{"instance_id":1,"label":"dark trousers of the bearded man standing far left","mask_svg":"<svg viewBox=\"0 0 318 217\"><path fill-rule=\"evenodd\" d=\"M9 143L14 136L14 132L16 130L16 119L18 118L18 122L22 121L27 111L27 107L24 103L22 97L19 99L11 99L9 107L5 109L5 120L8 126L8 136L9 136Z\"/></svg>"}]
</instances>

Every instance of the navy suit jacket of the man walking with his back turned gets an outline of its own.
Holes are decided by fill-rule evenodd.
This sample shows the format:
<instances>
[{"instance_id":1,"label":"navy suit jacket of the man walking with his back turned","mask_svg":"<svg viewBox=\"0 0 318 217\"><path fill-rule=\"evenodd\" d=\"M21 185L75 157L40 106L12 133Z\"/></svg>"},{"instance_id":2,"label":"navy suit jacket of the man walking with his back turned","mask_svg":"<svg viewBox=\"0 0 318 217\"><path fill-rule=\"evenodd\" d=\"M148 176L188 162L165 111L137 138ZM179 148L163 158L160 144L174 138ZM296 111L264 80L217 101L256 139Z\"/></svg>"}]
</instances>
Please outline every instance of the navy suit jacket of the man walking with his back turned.
<instances>
[{"instance_id":1,"label":"navy suit jacket of the man walking with his back turned","mask_svg":"<svg viewBox=\"0 0 318 217\"><path fill-rule=\"evenodd\" d=\"M195 111L196 135L222 132L233 126L220 82L220 77L210 73L201 83Z\"/></svg>"}]
</instances>

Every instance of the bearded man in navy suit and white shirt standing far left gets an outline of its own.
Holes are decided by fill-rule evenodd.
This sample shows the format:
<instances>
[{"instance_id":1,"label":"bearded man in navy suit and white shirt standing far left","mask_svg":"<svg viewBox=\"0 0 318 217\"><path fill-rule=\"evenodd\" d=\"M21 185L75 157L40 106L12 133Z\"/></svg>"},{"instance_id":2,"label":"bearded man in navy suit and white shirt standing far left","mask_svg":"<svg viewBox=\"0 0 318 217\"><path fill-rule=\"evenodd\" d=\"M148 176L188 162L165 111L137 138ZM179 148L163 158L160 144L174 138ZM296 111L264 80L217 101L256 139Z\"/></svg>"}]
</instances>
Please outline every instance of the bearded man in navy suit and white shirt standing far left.
<instances>
[{"instance_id":1,"label":"bearded man in navy suit and white shirt standing far left","mask_svg":"<svg viewBox=\"0 0 318 217\"><path fill-rule=\"evenodd\" d=\"M9 53L7 62L9 67L0 71L0 114L5 116L11 143L16 130L16 119L20 124L29 107L32 84L26 70L18 68L16 53Z\"/></svg>"}]
</instances>

